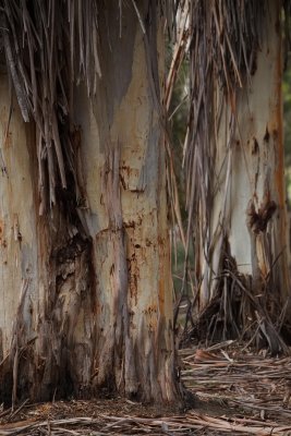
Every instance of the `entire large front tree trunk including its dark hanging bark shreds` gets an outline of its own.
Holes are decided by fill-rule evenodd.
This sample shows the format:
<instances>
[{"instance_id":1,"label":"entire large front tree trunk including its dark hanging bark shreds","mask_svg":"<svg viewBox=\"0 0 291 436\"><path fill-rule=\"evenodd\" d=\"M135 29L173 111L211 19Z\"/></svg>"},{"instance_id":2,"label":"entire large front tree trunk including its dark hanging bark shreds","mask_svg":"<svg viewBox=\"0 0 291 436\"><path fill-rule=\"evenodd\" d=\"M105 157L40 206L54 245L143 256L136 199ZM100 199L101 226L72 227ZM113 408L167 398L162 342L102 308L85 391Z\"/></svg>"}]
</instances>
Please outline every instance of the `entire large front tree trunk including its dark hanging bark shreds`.
<instances>
[{"instance_id":1,"label":"entire large front tree trunk including its dark hanging bark shreds","mask_svg":"<svg viewBox=\"0 0 291 436\"><path fill-rule=\"evenodd\" d=\"M25 128L14 98L2 149L9 178L0 184L5 401L12 391L13 402L181 398L158 110L166 3L137 5L147 50L133 4L121 17L113 0L2 3L7 58L11 48L34 120ZM7 83L3 74L0 134Z\"/></svg>"}]
</instances>

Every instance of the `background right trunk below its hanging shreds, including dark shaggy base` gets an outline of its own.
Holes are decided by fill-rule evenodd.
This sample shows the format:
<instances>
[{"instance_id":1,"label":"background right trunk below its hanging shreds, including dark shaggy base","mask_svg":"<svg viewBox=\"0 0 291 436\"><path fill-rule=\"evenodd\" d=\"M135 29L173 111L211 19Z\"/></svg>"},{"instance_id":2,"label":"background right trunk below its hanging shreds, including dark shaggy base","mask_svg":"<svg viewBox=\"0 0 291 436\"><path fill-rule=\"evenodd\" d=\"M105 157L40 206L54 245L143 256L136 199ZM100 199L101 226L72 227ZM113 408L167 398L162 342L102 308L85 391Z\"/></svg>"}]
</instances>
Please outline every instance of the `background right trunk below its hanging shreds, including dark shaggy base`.
<instances>
[{"instance_id":1,"label":"background right trunk below its hanging shreds, including dark shaggy base","mask_svg":"<svg viewBox=\"0 0 291 436\"><path fill-rule=\"evenodd\" d=\"M202 311L219 296L208 327L213 323L211 330L216 327L226 337L257 322L275 349L278 337L268 327L268 315L278 320L290 295L279 16L279 2L270 1L251 81L243 78L228 98L215 86L210 149L202 158L210 159L206 197L194 223L197 307Z\"/></svg>"}]
</instances>

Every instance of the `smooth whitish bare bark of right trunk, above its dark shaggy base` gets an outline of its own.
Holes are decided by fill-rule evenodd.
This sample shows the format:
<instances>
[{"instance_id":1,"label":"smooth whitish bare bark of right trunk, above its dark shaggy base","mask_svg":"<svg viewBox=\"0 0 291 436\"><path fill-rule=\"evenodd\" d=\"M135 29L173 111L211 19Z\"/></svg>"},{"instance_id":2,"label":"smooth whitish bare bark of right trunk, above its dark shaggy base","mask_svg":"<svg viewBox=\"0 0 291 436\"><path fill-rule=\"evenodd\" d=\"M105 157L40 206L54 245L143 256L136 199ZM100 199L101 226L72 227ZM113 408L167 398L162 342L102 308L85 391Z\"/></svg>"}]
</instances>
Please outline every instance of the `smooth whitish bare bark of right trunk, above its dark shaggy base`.
<instances>
[{"instance_id":1,"label":"smooth whitish bare bark of right trunk, above its dark shaggy base","mask_svg":"<svg viewBox=\"0 0 291 436\"><path fill-rule=\"evenodd\" d=\"M205 249L201 252L202 305L216 292L226 240L240 274L258 274L263 281L271 276L271 286L282 301L289 295L281 35L277 23L279 5L270 3L270 12L264 17L266 34L262 50L257 52L257 69L251 83L245 80L243 88L237 92L233 108L219 89L215 97L214 204L207 238L203 242ZM250 202L259 216L264 210L267 213L269 202L276 206L267 220L267 228L257 234L253 231L250 234L247 226Z\"/></svg>"}]
</instances>

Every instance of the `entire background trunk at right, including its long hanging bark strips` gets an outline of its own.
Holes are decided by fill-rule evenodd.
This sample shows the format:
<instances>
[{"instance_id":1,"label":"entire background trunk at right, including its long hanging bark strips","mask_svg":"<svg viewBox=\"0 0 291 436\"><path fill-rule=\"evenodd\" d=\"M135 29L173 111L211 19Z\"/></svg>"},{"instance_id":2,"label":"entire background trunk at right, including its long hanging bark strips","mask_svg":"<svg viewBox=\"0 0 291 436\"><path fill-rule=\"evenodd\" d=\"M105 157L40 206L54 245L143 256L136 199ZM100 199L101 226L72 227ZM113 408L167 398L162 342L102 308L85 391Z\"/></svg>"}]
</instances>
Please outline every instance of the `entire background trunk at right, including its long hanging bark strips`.
<instances>
[{"instance_id":1,"label":"entire background trunk at right, including its long hanging bark strips","mask_svg":"<svg viewBox=\"0 0 291 436\"><path fill-rule=\"evenodd\" d=\"M194 311L210 316L211 338L226 339L245 330L252 336L260 307L259 319L274 332L262 325L254 340L267 340L272 352L281 348L281 311L290 294L280 14L281 3L271 1L192 3L192 108L184 148Z\"/></svg>"}]
</instances>

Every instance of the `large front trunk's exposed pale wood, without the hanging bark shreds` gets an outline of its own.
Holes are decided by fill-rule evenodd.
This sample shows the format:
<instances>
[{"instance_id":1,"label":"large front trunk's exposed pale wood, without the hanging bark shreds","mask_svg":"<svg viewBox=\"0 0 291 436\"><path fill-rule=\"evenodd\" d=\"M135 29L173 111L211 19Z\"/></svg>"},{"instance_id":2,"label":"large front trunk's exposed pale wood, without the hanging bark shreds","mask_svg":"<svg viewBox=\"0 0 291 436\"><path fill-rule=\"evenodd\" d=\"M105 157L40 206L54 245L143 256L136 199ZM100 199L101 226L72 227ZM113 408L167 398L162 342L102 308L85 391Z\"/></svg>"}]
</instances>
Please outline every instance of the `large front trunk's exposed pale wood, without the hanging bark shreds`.
<instances>
[{"instance_id":1,"label":"large front trunk's exposed pale wood, without the hanging bark shreds","mask_svg":"<svg viewBox=\"0 0 291 436\"><path fill-rule=\"evenodd\" d=\"M153 4L138 3L157 52L148 51L134 8L126 8L121 28L114 2L99 12L102 77L94 98L82 85L75 89L80 128L71 145L81 189L74 192L69 179L44 216L34 128L25 129L13 105L2 147L8 177L1 184L0 328L1 393L13 392L14 401L108 391L145 401L179 398L156 102L162 26L155 24ZM4 76L0 90L4 136Z\"/></svg>"}]
</instances>

